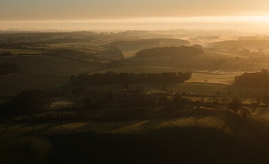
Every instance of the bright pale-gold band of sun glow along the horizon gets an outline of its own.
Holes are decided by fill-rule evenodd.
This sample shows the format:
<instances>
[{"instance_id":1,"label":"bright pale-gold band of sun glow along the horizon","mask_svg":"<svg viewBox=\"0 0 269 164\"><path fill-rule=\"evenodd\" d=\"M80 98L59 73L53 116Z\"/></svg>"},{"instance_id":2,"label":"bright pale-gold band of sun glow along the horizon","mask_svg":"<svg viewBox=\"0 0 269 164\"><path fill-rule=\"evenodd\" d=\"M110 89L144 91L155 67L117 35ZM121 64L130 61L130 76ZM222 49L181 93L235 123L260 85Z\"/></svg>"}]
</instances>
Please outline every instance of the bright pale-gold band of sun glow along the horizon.
<instances>
[{"instance_id":1,"label":"bright pale-gold band of sun glow along the horizon","mask_svg":"<svg viewBox=\"0 0 269 164\"><path fill-rule=\"evenodd\" d=\"M148 18L92 18L77 20L0 20L3 29L125 30L235 29L269 32L269 16L191 16Z\"/></svg>"}]
</instances>

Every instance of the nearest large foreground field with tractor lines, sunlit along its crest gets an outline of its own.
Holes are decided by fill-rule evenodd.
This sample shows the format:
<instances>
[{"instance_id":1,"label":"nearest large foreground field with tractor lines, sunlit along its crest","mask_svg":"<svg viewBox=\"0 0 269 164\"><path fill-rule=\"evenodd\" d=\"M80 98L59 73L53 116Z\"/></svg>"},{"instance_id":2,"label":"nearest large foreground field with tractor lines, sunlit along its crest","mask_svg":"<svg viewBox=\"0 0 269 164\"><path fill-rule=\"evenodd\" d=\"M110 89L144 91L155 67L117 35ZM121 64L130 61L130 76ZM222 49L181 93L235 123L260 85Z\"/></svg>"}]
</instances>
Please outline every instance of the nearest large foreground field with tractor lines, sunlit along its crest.
<instances>
[{"instance_id":1,"label":"nearest large foreground field with tractor lines, sunlit along its crest","mask_svg":"<svg viewBox=\"0 0 269 164\"><path fill-rule=\"evenodd\" d=\"M0 124L0 162L268 161L268 152L240 129L239 124L224 115L125 122Z\"/></svg>"}]
</instances>

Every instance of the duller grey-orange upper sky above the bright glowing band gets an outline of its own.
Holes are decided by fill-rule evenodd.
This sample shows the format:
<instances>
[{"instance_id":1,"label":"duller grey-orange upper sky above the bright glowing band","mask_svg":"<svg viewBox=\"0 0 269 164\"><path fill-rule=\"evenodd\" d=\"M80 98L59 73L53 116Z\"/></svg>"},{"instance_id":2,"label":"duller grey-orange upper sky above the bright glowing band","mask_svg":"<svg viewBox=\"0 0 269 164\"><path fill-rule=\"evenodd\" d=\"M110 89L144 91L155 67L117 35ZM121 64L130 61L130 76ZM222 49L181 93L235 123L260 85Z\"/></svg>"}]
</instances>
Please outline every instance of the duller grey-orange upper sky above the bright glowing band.
<instances>
[{"instance_id":1,"label":"duller grey-orange upper sky above the bright glowing band","mask_svg":"<svg viewBox=\"0 0 269 164\"><path fill-rule=\"evenodd\" d=\"M0 20L267 16L268 0L0 0Z\"/></svg>"}]
</instances>

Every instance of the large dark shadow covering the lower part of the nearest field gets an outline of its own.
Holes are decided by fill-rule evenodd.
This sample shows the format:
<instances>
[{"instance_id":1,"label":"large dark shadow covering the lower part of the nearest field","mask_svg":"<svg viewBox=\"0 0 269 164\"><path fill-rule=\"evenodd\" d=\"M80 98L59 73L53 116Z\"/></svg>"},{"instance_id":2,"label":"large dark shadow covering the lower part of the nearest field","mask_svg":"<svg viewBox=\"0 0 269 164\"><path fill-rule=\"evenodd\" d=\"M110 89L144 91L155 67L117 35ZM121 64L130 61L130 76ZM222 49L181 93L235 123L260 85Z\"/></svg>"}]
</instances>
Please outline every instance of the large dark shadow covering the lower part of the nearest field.
<instances>
[{"instance_id":1,"label":"large dark shadow covering the lower part of the nearest field","mask_svg":"<svg viewBox=\"0 0 269 164\"><path fill-rule=\"evenodd\" d=\"M86 127L81 127L85 128ZM244 139L213 128L158 128L123 135L83 131L49 135L51 151L31 144L29 163L261 163L266 152Z\"/></svg>"}]
</instances>

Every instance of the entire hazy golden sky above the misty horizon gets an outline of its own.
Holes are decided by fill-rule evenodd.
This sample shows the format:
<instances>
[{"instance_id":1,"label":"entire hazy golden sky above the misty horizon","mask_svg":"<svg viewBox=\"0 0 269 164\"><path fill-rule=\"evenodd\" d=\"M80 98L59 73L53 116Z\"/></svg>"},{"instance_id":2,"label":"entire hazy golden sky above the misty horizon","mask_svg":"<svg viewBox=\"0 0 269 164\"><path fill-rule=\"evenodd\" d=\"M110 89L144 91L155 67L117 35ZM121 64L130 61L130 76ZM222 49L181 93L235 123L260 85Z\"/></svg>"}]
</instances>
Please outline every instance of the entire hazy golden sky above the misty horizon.
<instances>
[{"instance_id":1,"label":"entire hazy golden sky above the misty horizon","mask_svg":"<svg viewBox=\"0 0 269 164\"><path fill-rule=\"evenodd\" d=\"M266 30L268 9L268 0L0 0L0 29Z\"/></svg>"}]
</instances>

